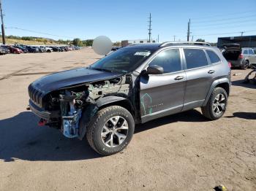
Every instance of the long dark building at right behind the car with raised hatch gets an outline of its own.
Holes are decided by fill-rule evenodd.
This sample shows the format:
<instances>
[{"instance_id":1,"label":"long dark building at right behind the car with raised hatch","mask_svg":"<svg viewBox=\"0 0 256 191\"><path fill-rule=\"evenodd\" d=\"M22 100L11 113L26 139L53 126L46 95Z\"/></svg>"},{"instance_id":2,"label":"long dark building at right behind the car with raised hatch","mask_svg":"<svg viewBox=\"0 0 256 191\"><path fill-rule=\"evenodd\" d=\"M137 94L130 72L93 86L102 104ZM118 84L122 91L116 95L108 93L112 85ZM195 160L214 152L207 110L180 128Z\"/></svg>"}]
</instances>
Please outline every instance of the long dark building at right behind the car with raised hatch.
<instances>
[{"instance_id":1,"label":"long dark building at right behind the car with raised hatch","mask_svg":"<svg viewBox=\"0 0 256 191\"><path fill-rule=\"evenodd\" d=\"M219 37L217 47L222 47L222 44L227 43L237 43L240 44L241 47L256 47L256 35Z\"/></svg>"}]
</instances>

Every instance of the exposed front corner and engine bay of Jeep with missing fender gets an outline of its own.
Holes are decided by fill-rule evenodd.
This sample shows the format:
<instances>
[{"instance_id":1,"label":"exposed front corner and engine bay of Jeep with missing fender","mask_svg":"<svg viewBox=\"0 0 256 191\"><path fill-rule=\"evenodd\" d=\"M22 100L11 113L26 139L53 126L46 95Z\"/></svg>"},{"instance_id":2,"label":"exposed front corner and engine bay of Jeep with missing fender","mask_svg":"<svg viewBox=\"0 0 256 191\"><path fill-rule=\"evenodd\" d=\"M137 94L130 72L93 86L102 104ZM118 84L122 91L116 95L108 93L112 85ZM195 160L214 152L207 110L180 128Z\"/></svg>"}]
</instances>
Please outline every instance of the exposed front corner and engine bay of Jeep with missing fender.
<instances>
[{"instance_id":1,"label":"exposed front corner and engine bay of Jeep with missing fender","mask_svg":"<svg viewBox=\"0 0 256 191\"><path fill-rule=\"evenodd\" d=\"M59 111L59 117L48 120L42 118L40 123L61 129L67 138L75 138L80 135L79 138L82 139L85 130L80 129L83 128L80 125L81 117L85 115L85 123L89 123L91 117L98 110L97 101L100 98L108 95L128 98L130 87L132 87L131 82L131 77L126 75L53 91L43 98L44 108L49 112Z\"/></svg>"}]
</instances>

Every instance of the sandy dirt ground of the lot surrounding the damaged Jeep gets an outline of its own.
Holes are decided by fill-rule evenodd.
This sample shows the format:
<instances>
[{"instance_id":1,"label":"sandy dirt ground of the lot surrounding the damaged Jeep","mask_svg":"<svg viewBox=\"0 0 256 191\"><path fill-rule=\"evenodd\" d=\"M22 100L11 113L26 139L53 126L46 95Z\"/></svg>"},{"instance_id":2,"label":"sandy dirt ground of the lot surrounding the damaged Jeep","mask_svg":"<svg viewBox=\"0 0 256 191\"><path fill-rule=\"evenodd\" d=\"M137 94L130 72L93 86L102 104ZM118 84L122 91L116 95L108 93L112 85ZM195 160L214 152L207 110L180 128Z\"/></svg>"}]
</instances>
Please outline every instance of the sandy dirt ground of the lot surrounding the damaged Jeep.
<instances>
[{"instance_id":1,"label":"sandy dirt ground of the lot surrounding the damaged Jeep","mask_svg":"<svg viewBox=\"0 0 256 191\"><path fill-rule=\"evenodd\" d=\"M91 49L0 56L0 190L256 190L256 86L233 70L227 111L200 109L139 125L124 152L101 157L85 140L38 127L29 83L93 63Z\"/></svg>"}]
</instances>

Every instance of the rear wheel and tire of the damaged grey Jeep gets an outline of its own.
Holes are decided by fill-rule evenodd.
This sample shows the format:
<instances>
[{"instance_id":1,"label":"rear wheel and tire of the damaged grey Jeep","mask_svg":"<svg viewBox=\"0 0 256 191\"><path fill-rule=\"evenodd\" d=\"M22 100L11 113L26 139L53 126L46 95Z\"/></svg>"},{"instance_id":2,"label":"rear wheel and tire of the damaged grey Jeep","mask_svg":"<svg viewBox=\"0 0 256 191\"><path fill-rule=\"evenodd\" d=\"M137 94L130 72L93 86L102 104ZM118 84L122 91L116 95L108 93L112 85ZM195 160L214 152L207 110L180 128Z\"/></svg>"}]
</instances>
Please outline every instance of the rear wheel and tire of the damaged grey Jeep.
<instances>
[{"instance_id":1,"label":"rear wheel and tire of the damaged grey Jeep","mask_svg":"<svg viewBox=\"0 0 256 191\"><path fill-rule=\"evenodd\" d=\"M227 109L227 92L222 87L216 87L211 93L206 106L201 107L203 116L209 120L218 120Z\"/></svg>"}]
</instances>

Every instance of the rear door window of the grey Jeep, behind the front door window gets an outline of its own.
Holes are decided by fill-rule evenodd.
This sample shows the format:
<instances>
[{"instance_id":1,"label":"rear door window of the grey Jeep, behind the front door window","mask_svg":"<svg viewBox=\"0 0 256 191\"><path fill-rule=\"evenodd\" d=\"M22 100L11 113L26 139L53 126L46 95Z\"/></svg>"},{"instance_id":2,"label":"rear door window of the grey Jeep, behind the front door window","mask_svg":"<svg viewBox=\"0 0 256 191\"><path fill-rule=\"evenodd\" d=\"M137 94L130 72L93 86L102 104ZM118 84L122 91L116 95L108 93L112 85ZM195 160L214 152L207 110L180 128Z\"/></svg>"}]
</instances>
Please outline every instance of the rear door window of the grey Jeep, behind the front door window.
<instances>
[{"instance_id":1,"label":"rear door window of the grey Jeep, behind the front door window","mask_svg":"<svg viewBox=\"0 0 256 191\"><path fill-rule=\"evenodd\" d=\"M195 69L202 66L207 66L208 61L206 53L200 49L184 49L187 69Z\"/></svg>"}]
</instances>

